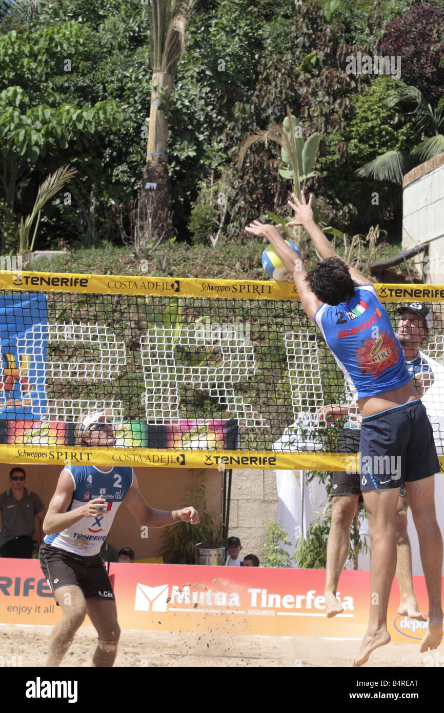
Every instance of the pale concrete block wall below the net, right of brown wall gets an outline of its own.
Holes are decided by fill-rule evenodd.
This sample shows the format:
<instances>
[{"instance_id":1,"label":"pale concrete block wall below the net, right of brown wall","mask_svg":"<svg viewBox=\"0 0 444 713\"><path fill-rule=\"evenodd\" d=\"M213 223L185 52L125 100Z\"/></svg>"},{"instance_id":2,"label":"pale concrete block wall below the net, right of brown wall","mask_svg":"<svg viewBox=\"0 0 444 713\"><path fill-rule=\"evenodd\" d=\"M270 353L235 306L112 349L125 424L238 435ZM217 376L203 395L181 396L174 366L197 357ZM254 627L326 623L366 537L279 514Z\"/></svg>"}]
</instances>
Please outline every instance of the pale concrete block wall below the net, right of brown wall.
<instances>
[{"instance_id":1,"label":"pale concrete block wall below the net, right of brown wall","mask_svg":"<svg viewBox=\"0 0 444 713\"><path fill-rule=\"evenodd\" d=\"M264 545L264 520L276 521L277 488L274 471L234 470L229 510L230 536L242 543L241 555L257 555Z\"/></svg>"}]
</instances>

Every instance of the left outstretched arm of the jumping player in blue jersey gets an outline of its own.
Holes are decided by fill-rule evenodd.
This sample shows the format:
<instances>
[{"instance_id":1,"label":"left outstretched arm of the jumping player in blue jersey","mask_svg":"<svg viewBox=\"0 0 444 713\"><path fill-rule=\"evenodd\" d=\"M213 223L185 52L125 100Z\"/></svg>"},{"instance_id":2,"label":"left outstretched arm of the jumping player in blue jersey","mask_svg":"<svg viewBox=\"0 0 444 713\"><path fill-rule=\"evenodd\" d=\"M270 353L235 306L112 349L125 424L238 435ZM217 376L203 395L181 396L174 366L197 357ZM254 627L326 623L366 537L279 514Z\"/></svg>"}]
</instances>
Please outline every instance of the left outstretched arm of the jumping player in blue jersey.
<instances>
[{"instance_id":1,"label":"left outstretched arm of the jumping player in blue jersey","mask_svg":"<svg viewBox=\"0 0 444 713\"><path fill-rule=\"evenodd\" d=\"M302 307L304 307L311 321L314 322L314 314L316 310L321 307L322 302L311 292L311 289L305 282L307 275L306 267L297 252L291 250L291 247L289 247L284 238L279 235L274 225L264 225L264 223L259 222L259 220L254 220L245 230L252 232L254 235L266 237L267 240L271 242L286 269L293 275L294 284L296 284Z\"/></svg>"}]
</instances>

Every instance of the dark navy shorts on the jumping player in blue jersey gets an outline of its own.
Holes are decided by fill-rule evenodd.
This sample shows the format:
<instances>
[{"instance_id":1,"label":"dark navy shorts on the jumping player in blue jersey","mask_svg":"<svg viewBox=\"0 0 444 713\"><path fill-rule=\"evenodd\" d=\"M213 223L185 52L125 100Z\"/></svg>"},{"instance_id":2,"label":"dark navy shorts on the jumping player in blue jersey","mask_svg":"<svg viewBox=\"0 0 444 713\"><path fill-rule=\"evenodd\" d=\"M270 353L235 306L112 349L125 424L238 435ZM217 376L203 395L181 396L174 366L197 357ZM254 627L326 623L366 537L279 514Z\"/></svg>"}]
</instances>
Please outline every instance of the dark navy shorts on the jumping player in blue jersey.
<instances>
[{"instance_id":1,"label":"dark navy shorts on the jumping player in blue jersey","mask_svg":"<svg viewBox=\"0 0 444 713\"><path fill-rule=\"evenodd\" d=\"M419 399L362 419L361 491L399 488L440 471L433 429Z\"/></svg>"}]
</instances>

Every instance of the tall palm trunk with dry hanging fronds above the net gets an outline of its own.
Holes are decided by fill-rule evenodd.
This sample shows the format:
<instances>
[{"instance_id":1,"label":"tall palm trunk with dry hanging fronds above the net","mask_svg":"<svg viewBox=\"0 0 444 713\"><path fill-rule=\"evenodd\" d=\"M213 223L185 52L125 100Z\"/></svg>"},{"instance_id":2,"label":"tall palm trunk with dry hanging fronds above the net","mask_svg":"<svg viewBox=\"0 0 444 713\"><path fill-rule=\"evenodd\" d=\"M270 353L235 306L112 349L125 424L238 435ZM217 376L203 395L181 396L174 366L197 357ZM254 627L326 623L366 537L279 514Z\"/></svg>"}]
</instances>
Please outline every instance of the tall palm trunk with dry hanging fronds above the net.
<instances>
[{"instance_id":1,"label":"tall palm trunk with dry hanging fronds above the net","mask_svg":"<svg viewBox=\"0 0 444 713\"><path fill-rule=\"evenodd\" d=\"M146 165L143 170L143 196L146 200L146 184L155 184L153 207L150 210L151 225L152 231L155 234L160 232L160 235L165 232L165 225L161 223L171 210L167 166L168 123L160 106L168 106L177 64L185 52L187 23L194 3L195 0L148 0L153 91Z\"/></svg>"}]
</instances>

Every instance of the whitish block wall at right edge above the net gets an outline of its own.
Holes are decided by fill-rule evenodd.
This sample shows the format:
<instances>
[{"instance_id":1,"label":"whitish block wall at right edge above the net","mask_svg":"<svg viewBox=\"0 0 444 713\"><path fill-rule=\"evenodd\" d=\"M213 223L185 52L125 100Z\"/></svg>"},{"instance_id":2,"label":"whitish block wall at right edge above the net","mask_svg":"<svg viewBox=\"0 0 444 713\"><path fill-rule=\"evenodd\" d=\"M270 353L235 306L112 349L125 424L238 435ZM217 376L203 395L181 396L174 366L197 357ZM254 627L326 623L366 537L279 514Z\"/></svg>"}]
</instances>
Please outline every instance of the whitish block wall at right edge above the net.
<instances>
[{"instance_id":1,"label":"whitish block wall at right edge above the net","mask_svg":"<svg viewBox=\"0 0 444 713\"><path fill-rule=\"evenodd\" d=\"M444 153L421 163L403 180L403 250L430 240L428 270L423 254L415 267L423 282L444 282Z\"/></svg>"}]
</instances>

